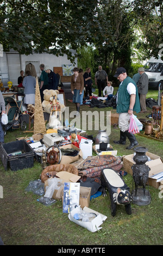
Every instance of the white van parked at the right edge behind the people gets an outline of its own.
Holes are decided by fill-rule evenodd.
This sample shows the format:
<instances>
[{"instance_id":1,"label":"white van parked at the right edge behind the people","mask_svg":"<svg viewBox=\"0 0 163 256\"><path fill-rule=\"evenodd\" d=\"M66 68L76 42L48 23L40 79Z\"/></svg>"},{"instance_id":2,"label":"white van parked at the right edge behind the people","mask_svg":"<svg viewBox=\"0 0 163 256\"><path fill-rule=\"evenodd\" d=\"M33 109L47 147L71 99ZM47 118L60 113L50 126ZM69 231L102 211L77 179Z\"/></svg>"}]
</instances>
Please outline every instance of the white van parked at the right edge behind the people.
<instances>
[{"instance_id":1,"label":"white van parked at the right edge behind the people","mask_svg":"<svg viewBox=\"0 0 163 256\"><path fill-rule=\"evenodd\" d=\"M161 83L160 90L163 89L163 61L161 58L155 59L152 57L144 66L145 72L149 79L149 87L159 89L159 84Z\"/></svg>"}]
</instances>

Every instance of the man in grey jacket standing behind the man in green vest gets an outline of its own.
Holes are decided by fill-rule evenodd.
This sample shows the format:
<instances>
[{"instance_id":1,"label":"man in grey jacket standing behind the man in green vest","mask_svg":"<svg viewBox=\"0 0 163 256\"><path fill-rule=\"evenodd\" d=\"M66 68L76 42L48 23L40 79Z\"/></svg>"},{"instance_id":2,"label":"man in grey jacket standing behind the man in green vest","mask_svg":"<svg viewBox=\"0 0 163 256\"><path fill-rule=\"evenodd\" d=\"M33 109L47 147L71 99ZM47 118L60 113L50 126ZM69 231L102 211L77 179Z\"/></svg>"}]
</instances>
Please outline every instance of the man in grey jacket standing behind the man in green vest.
<instances>
[{"instance_id":1,"label":"man in grey jacket standing behind the man in green vest","mask_svg":"<svg viewBox=\"0 0 163 256\"><path fill-rule=\"evenodd\" d=\"M139 74L140 74L140 78L139 81L137 83L137 87L138 87L138 92L140 94L140 106L141 106L141 113L146 113L147 112L147 108L146 108L146 95L148 93L148 76L145 73L145 69L143 67L138 69Z\"/></svg>"}]
</instances>

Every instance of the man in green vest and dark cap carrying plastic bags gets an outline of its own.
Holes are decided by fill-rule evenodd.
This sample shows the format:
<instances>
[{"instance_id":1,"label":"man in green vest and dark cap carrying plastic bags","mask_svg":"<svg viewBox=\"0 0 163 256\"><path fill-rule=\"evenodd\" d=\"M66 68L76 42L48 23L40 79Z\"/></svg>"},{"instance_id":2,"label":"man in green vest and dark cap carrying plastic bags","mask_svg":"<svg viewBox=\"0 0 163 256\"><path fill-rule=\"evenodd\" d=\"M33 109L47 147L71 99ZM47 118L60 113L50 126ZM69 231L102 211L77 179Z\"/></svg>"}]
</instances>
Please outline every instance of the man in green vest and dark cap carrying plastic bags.
<instances>
[{"instance_id":1,"label":"man in green vest and dark cap carrying plastic bags","mask_svg":"<svg viewBox=\"0 0 163 256\"><path fill-rule=\"evenodd\" d=\"M129 120L133 111L140 112L140 101L137 86L134 80L127 76L126 69L118 68L114 77L121 82L117 92L117 113L119 113L118 126L120 128L120 140L114 141L116 144L126 144L126 138L130 145L127 149L132 149L139 145L135 135L129 133Z\"/></svg>"}]
</instances>

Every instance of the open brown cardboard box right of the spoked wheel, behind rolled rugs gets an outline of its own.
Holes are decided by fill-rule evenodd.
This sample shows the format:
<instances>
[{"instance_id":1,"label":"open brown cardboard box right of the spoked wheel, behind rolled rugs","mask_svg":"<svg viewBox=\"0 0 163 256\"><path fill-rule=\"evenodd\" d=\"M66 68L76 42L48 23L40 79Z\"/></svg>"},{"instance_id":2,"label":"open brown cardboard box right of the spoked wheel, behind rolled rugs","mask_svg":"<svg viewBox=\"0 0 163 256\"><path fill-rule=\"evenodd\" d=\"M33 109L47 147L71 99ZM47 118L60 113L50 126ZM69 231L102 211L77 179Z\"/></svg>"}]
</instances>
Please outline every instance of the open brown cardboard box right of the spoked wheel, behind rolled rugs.
<instances>
[{"instance_id":1,"label":"open brown cardboard box right of the spoked wheel, behind rolled rugs","mask_svg":"<svg viewBox=\"0 0 163 256\"><path fill-rule=\"evenodd\" d=\"M59 147L60 149L75 149L77 151L79 151L79 154L77 156L62 156L61 157L61 161L60 161L60 164L67 164L67 163L73 163L73 162L76 162L78 161L81 157L83 158L83 153L82 153L82 150L77 148L76 146L72 145L72 144L67 144L67 145L64 145L62 147ZM55 151L58 152L58 149L57 148L54 148Z\"/></svg>"}]
</instances>

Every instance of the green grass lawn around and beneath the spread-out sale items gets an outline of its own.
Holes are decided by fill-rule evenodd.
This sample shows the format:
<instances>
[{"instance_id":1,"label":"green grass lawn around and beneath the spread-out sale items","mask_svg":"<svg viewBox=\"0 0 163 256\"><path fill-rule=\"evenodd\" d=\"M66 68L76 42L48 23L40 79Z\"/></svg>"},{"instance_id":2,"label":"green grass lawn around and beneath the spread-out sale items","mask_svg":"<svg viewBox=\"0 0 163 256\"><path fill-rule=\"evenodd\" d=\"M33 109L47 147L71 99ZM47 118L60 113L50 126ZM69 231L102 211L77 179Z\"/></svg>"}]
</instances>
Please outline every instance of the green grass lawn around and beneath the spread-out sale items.
<instances>
[{"instance_id":1,"label":"green grass lawn around and beneath the spread-out sale items","mask_svg":"<svg viewBox=\"0 0 163 256\"><path fill-rule=\"evenodd\" d=\"M157 99L158 92L149 90L147 97ZM70 111L75 110L73 103L66 101ZM81 106L80 111L110 111L111 108L89 108ZM147 118L147 113L137 114L138 118ZM81 120L82 122L82 120ZM98 131L93 128L87 134L96 137ZM15 141L17 137L31 136L21 130L7 132L5 143ZM115 145L118 139L118 127L111 127L109 135L110 144L117 150L117 155L133 154L134 150L127 150L125 146ZM146 147L150 153L163 159L161 141L155 141L136 135L139 145ZM127 141L129 144L129 141ZM93 152L93 155L95 153ZM90 202L90 208L106 215L101 225L102 229L91 233L83 227L71 222L68 215L62 213L62 202L58 201L52 206L45 206L37 202L38 196L26 192L29 182L40 178L41 164L34 162L33 168L18 170L4 170L1 163L0 185L3 187L3 198L0 198L0 236L5 245L162 245L162 206L163 199L159 189L149 186L152 197L151 204L137 206L131 204L132 214L127 215L123 206L118 205L115 217L111 216L110 198L97 197ZM123 177L126 184L133 189L133 178L130 174Z\"/></svg>"}]
</instances>

